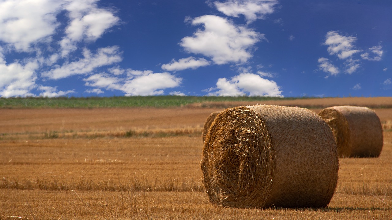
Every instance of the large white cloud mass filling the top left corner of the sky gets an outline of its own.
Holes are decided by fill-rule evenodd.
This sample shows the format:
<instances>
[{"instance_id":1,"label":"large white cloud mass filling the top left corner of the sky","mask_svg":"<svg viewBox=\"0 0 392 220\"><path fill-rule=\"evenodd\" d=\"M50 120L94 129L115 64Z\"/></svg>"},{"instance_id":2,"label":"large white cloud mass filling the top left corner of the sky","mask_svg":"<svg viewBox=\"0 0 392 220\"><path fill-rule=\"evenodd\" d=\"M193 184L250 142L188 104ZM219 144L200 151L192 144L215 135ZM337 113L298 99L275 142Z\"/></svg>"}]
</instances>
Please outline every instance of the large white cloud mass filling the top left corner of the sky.
<instances>
[{"instance_id":1,"label":"large white cloud mass filling the top left corner of the sky","mask_svg":"<svg viewBox=\"0 0 392 220\"><path fill-rule=\"evenodd\" d=\"M33 45L51 43L60 26L57 16L67 11L71 20L60 41L64 57L76 49L75 43L93 41L119 22L108 9L100 9L98 0L3 0L0 2L0 41L9 50L34 52Z\"/></svg>"}]
</instances>

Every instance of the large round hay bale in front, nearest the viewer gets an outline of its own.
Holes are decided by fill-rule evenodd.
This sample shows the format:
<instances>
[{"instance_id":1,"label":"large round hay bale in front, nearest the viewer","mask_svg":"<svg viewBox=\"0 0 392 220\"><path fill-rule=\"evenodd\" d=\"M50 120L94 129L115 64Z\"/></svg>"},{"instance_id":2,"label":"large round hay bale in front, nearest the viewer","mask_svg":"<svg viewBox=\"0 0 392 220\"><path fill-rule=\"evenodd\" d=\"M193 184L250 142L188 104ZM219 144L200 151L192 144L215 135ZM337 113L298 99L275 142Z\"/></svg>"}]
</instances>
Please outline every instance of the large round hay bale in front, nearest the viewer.
<instances>
[{"instance_id":1,"label":"large round hay bale in front, nearest the viewer","mask_svg":"<svg viewBox=\"0 0 392 220\"><path fill-rule=\"evenodd\" d=\"M336 142L314 112L240 106L218 114L203 147L203 184L230 207L325 207L338 180Z\"/></svg>"}]
</instances>

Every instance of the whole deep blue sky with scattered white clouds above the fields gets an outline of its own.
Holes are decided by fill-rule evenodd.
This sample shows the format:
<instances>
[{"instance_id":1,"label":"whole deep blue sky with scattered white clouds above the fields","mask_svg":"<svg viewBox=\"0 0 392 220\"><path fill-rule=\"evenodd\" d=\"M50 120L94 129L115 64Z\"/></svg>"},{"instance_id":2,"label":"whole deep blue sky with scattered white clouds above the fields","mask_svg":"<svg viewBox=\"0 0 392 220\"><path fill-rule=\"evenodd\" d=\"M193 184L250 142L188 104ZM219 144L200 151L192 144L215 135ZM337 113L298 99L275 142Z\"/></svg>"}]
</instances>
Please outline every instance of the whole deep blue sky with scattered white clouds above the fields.
<instances>
[{"instance_id":1,"label":"whole deep blue sky with scattered white clouds above the fields","mask_svg":"<svg viewBox=\"0 0 392 220\"><path fill-rule=\"evenodd\" d=\"M0 96L391 96L390 0L0 0Z\"/></svg>"}]
</instances>

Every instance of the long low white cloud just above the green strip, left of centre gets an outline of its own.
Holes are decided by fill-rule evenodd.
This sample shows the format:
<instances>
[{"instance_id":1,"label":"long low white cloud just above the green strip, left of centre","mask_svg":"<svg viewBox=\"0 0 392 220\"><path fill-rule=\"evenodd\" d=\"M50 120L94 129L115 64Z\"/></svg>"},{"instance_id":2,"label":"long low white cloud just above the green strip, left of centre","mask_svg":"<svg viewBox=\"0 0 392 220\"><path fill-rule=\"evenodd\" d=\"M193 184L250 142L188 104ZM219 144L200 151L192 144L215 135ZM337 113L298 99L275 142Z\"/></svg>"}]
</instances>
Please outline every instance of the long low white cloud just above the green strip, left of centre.
<instances>
[{"instance_id":1,"label":"long low white cloud just above the green strip, left of centre","mask_svg":"<svg viewBox=\"0 0 392 220\"><path fill-rule=\"evenodd\" d=\"M126 78L100 73L94 74L84 81L86 81L86 86L120 90L125 93L125 96L152 96L163 95L164 89L180 86L182 78L177 78L167 72L128 70ZM180 95L180 93L178 94Z\"/></svg>"}]
</instances>

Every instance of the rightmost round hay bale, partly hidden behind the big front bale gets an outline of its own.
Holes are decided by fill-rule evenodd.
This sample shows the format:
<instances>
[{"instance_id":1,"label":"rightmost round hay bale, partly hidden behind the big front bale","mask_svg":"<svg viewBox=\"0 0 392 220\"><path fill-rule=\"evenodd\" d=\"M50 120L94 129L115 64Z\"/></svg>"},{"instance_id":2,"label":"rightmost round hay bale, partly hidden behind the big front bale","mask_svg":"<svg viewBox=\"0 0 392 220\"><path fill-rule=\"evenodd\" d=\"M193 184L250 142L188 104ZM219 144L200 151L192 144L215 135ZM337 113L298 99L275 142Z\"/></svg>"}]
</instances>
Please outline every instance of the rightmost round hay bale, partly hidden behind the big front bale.
<instances>
[{"instance_id":1,"label":"rightmost round hay bale, partly hidden behind the big front bale","mask_svg":"<svg viewBox=\"0 0 392 220\"><path fill-rule=\"evenodd\" d=\"M378 157L383 148L383 130L376 113L366 107L333 106L321 110L331 127L339 157Z\"/></svg>"}]
</instances>

